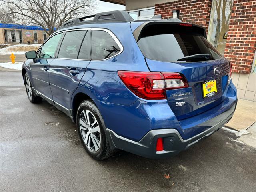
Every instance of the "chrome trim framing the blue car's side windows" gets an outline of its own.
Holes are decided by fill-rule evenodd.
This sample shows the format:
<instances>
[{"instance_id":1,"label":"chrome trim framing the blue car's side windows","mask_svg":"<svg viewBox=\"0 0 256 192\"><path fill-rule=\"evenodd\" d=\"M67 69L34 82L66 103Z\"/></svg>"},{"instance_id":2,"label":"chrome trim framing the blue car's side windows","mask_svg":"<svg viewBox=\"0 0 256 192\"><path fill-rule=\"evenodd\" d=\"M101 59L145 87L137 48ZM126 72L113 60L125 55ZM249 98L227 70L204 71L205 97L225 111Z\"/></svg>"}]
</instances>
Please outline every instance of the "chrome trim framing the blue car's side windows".
<instances>
[{"instance_id":1,"label":"chrome trim framing the blue car's side windows","mask_svg":"<svg viewBox=\"0 0 256 192\"><path fill-rule=\"evenodd\" d=\"M118 52L118 53L115 54L114 56L111 56L111 57L106 58L106 59L90 59L90 60L89 60L89 59L71 59L71 58L57 58L57 57L50 57L50 58L45 58L45 57L40 58L40 57L39 57L39 58L36 58L36 59L68 59L68 60L80 60L80 61L104 61L104 60L108 60L108 59L110 59L110 58L113 58L113 57L115 57L115 56L121 54L121 53L124 51L124 47L122 46L122 44L121 44L121 42L118 40L118 38L115 36L115 34L114 34L112 31L110 31L109 29L106 29L106 28L77 28L77 29L63 30L63 31L60 31L60 32L57 32L57 33L54 33L54 34L50 35L50 36L47 38L47 40L40 46L40 48L42 48L42 46L43 46L52 36L54 36L54 35L57 35L57 34L60 34L60 33L65 33L65 32L70 32L70 31L81 31L81 30L90 30L90 31L95 30L95 31L105 31L105 32L107 32L107 33L114 39L114 41L116 42L116 44L119 46L120 52ZM39 48L39 49L40 49L40 48ZM91 43L90 43L90 48L92 49ZM38 49L38 50L39 50L39 49ZM36 55L37 55L37 52L36 52Z\"/></svg>"}]
</instances>

